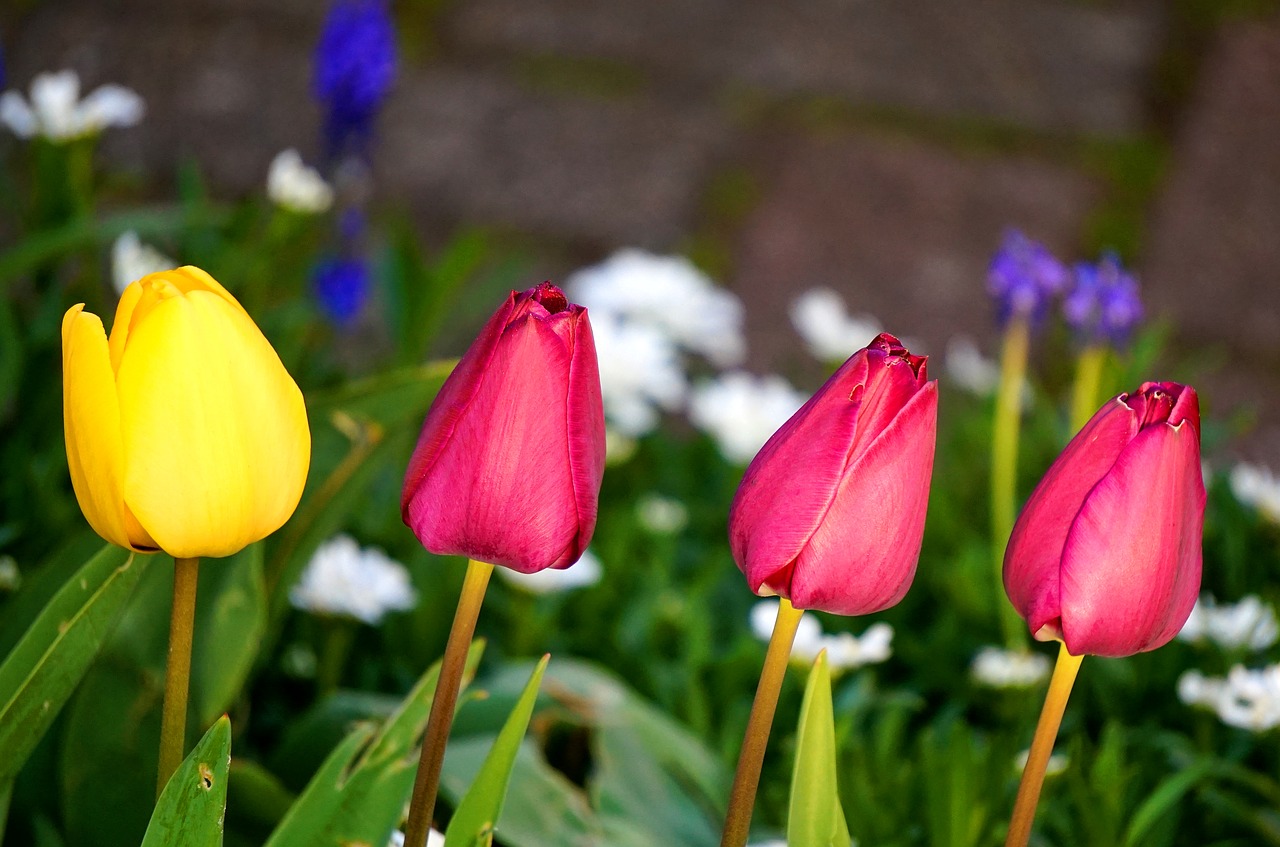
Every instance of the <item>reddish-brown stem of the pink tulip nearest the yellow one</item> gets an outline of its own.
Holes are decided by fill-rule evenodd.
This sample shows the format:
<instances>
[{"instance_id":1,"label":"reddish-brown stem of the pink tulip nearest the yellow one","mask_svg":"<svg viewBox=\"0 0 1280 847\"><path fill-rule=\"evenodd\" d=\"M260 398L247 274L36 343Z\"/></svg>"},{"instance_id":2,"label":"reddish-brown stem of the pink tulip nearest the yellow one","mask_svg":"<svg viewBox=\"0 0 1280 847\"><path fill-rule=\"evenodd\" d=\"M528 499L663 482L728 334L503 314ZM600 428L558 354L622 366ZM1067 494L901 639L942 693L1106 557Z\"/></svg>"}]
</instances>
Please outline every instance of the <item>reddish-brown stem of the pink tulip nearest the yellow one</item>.
<instances>
[{"instance_id":1,"label":"reddish-brown stem of the pink tulip nearest the yellow one","mask_svg":"<svg viewBox=\"0 0 1280 847\"><path fill-rule=\"evenodd\" d=\"M458 702L462 670L466 667L471 636L476 631L476 618L480 615L480 604L484 601L485 589L489 587L490 574L493 566L488 562L471 559L467 563L458 608L453 613L453 626L449 628L449 641L440 660L440 676L435 683L435 696L431 699L431 714L426 719L426 734L422 736L422 756L417 763L408 824L404 827L404 847L426 847L426 837L431 832L435 795L440 788L440 765L444 763L444 745L453 725L453 709Z\"/></svg>"}]
</instances>

